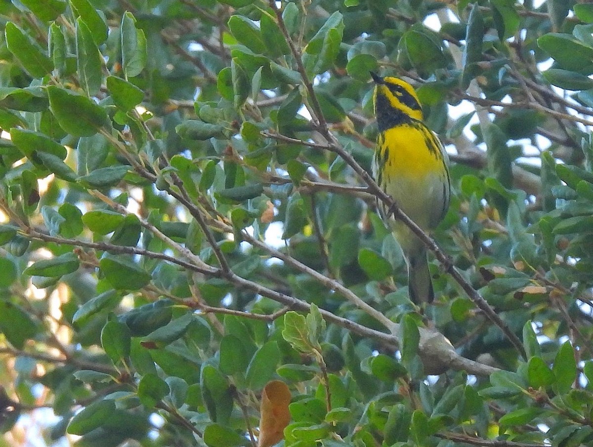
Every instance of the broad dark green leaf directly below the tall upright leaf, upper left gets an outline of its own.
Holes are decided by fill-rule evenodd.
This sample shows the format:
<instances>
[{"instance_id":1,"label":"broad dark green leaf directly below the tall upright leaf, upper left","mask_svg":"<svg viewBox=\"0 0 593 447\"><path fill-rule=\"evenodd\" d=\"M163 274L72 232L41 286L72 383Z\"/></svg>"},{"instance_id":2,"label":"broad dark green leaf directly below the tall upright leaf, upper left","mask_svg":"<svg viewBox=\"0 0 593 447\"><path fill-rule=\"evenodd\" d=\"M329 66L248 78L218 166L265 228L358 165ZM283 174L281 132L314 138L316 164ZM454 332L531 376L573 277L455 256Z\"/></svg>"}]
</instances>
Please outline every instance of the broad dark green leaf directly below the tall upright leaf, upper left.
<instances>
[{"instance_id":1,"label":"broad dark green leaf directly below the tall upright leaf, upper left","mask_svg":"<svg viewBox=\"0 0 593 447\"><path fill-rule=\"evenodd\" d=\"M71 135L95 135L107 121L105 109L90 98L55 85L47 87L47 95L60 127Z\"/></svg>"}]
</instances>

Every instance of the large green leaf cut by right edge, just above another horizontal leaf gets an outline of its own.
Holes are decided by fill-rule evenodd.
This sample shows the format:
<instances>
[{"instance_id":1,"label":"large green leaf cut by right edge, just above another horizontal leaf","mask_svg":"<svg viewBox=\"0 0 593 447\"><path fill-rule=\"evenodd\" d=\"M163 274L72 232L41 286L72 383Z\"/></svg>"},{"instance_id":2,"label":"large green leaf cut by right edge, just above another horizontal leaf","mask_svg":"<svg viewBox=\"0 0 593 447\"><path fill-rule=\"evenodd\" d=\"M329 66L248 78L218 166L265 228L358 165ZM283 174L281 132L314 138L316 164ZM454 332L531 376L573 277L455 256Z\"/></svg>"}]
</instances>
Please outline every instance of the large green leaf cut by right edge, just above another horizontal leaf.
<instances>
[{"instance_id":1,"label":"large green leaf cut by right edge, just above another horizontal leaf","mask_svg":"<svg viewBox=\"0 0 593 447\"><path fill-rule=\"evenodd\" d=\"M585 46L570 34L547 33L537 40L560 67L581 75L593 73L593 48Z\"/></svg>"}]
</instances>

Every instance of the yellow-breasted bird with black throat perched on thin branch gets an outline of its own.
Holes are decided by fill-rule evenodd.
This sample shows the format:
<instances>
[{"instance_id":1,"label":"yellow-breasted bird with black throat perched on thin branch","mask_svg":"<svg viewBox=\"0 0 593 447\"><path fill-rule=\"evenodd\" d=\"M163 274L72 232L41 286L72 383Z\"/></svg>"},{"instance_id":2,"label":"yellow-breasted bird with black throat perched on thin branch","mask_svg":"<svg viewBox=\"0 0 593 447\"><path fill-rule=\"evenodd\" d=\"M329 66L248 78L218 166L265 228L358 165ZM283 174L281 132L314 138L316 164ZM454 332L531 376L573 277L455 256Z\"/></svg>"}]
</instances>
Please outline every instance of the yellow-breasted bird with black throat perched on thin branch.
<instances>
[{"instance_id":1,"label":"yellow-breasted bird with black throat perched on thin branch","mask_svg":"<svg viewBox=\"0 0 593 447\"><path fill-rule=\"evenodd\" d=\"M438 136L423 122L422 106L408 82L371 72L377 117L377 149L372 172L378 186L425 232L441 222L449 207L449 158ZM378 209L400 244L407 264L410 301L431 303L435 293L426 246L412 230L390 216L384 203Z\"/></svg>"}]
</instances>

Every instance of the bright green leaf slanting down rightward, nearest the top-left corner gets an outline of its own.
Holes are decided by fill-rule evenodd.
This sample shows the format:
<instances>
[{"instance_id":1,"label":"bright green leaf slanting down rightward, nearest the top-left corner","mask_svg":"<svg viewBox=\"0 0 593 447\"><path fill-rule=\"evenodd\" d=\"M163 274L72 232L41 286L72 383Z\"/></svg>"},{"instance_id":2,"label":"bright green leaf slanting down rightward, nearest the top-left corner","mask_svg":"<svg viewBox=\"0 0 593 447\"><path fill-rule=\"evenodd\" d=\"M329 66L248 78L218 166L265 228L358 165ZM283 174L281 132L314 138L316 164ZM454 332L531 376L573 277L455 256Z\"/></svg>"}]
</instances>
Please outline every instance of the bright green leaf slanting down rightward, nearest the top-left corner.
<instances>
[{"instance_id":1,"label":"bright green leaf slanting down rightward, nearest the top-left corner","mask_svg":"<svg viewBox=\"0 0 593 447\"><path fill-rule=\"evenodd\" d=\"M18 25L8 22L4 28L8 51L33 78L43 78L53 70L53 63L43 50Z\"/></svg>"}]
</instances>

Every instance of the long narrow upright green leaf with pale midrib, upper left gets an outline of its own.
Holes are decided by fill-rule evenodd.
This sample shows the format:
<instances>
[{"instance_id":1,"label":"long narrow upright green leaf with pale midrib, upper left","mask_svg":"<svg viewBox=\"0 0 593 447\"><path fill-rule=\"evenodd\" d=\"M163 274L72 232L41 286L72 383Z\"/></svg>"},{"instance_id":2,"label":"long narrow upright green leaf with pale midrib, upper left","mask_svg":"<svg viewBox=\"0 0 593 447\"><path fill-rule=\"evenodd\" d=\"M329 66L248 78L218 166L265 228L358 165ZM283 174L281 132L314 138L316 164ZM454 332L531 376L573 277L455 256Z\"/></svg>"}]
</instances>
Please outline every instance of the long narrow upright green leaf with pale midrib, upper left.
<instances>
[{"instance_id":1,"label":"long narrow upright green leaf with pale midrib, upper left","mask_svg":"<svg viewBox=\"0 0 593 447\"><path fill-rule=\"evenodd\" d=\"M103 82L103 58L93 34L81 18L76 20L76 64L81 87L88 95L94 96Z\"/></svg>"}]
</instances>

